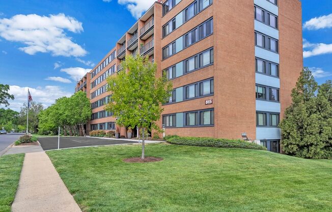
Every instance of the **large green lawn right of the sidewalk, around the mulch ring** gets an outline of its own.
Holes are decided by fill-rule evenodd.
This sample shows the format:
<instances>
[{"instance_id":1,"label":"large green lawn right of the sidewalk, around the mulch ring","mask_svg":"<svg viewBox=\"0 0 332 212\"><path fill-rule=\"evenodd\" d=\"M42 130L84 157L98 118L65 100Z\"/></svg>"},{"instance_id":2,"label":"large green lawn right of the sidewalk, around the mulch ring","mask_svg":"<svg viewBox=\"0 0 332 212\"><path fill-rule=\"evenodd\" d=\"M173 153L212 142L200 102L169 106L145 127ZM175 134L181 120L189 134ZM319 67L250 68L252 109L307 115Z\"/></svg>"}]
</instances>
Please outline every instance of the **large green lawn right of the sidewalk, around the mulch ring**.
<instances>
[{"instance_id":1,"label":"large green lawn right of the sidewalk, around the mulch ring","mask_svg":"<svg viewBox=\"0 0 332 212\"><path fill-rule=\"evenodd\" d=\"M332 211L332 161L150 144L48 151L84 211Z\"/></svg>"}]
</instances>

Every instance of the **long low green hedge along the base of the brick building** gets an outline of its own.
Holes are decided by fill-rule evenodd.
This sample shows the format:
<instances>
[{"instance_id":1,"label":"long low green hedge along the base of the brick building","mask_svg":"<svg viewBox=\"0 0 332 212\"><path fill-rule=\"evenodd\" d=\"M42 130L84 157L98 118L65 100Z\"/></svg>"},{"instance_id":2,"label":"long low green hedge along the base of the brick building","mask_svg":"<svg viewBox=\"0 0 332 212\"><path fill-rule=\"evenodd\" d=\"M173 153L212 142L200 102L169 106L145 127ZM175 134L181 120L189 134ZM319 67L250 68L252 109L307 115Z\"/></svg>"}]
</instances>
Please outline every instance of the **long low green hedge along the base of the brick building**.
<instances>
[{"instance_id":1,"label":"long low green hedge along the base of the brick building","mask_svg":"<svg viewBox=\"0 0 332 212\"><path fill-rule=\"evenodd\" d=\"M249 143L241 140L214 139L214 138L194 138L194 137L172 137L167 140L171 144L204 146L218 148L242 148L242 149L260 149L266 150L265 147L258 144Z\"/></svg>"}]
</instances>

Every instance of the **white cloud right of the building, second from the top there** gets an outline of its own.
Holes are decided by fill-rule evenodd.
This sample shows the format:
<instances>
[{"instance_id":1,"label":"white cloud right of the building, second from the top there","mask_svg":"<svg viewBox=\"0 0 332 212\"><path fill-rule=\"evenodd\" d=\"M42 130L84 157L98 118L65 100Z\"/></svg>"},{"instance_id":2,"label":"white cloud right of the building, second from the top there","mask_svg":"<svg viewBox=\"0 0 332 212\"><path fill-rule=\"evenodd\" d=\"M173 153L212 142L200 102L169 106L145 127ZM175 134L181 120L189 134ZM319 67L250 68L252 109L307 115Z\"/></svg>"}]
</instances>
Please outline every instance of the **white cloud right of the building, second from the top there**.
<instances>
[{"instance_id":1,"label":"white cloud right of the building, second from the top there","mask_svg":"<svg viewBox=\"0 0 332 212\"><path fill-rule=\"evenodd\" d=\"M303 49L307 49L303 51L303 58L309 58L332 53L332 44L310 43L303 39Z\"/></svg>"}]
</instances>

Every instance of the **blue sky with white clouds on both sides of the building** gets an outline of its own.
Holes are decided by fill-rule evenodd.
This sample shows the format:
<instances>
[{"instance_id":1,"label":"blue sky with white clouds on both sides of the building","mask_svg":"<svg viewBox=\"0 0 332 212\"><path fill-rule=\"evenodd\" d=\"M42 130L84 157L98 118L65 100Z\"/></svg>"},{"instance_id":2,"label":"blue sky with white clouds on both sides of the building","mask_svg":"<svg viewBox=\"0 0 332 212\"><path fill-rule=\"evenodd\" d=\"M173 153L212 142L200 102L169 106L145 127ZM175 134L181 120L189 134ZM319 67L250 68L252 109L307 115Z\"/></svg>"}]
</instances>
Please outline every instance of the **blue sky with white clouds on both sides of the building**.
<instances>
[{"instance_id":1,"label":"blue sky with white clouds on both sides of the building","mask_svg":"<svg viewBox=\"0 0 332 212\"><path fill-rule=\"evenodd\" d=\"M9 84L16 97L10 108L19 110L27 87L45 106L71 95L75 81L153 2L0 0L0 83ZM304 65L323 83L332 78L332 3L302 0L302 10Z\"/></svg>"}]
</instances>

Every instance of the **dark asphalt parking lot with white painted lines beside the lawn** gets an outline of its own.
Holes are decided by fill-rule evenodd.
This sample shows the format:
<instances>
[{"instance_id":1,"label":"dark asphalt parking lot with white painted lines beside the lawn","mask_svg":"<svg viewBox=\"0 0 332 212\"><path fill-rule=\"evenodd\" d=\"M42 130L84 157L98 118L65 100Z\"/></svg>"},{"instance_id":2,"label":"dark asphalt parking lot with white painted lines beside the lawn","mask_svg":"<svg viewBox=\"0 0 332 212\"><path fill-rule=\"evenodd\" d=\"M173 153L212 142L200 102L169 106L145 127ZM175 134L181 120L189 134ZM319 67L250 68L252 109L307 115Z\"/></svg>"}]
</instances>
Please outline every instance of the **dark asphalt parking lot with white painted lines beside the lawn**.
<instances>
[{"instance_id":1,"label":"dark asphalt parking lot with white painted lines beside the lawn","mask_svg":"<svg viewBox=\"0 0 332 212\"><path fill-rule=\"evenodd\" d=\"M44 150L58 149L58 138L57 137L46 137L38 138ZM136 144L136 141L123 141L123 140L107 140L107 139L96 139L96 138L82 138L82 137L61 137L60 138L60 149L72 148L72 147L83 147L83 146L101 146L101 145L112 145L112 144Z\"/></svg>"}]
</instances>

